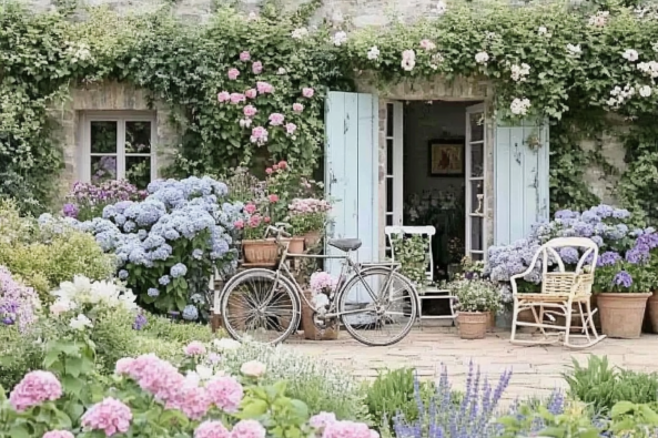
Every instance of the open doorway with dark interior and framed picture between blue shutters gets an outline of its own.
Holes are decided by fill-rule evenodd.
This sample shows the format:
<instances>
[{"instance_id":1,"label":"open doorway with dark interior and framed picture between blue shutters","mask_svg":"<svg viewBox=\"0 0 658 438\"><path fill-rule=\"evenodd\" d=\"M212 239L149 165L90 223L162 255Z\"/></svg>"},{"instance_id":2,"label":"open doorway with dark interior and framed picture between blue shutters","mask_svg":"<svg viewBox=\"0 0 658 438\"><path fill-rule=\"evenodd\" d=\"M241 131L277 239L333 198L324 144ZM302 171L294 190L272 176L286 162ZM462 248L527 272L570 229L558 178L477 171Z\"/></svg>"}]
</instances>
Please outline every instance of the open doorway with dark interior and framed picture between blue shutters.
<instances>
[{"instance_id":1,"label":"open doorway with dark interior and framed picture between blue shutters","mask_svg":"<svg viewBox=\"0 0 658 438\"><path fill-rule=\"evenodd\" d=\"M434 278L485 256L485 130L479 102L387 104L386 225L436 228Z\"/></svg>"}]
</instances>

